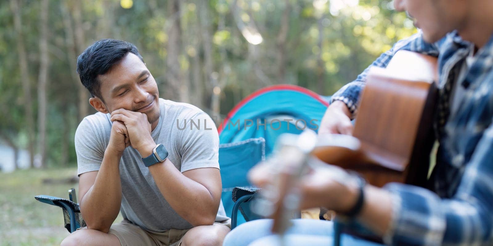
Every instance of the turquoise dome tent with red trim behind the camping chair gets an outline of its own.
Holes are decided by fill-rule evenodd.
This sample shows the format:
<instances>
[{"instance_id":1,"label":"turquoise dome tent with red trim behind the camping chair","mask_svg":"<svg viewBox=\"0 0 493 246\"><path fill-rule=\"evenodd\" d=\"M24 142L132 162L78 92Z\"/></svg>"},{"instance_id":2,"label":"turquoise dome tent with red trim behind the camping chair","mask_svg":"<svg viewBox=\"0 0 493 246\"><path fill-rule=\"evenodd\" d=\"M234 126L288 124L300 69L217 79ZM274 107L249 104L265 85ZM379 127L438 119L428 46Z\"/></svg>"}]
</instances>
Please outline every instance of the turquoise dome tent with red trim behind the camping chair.
<instances>
[{"instance_id":1,"label":"turquoise dome tent with red trim behind the camping chair","mask_svg":"<svg viewBox=\"0 0 493 246\"><path fill-rule=\"evenodd\" d=\"M262 137L270 154L278 136L318 129L330 97L293 85L276 85L252 93L219 126L219 142Z\"/></svg>"}]
</instances>

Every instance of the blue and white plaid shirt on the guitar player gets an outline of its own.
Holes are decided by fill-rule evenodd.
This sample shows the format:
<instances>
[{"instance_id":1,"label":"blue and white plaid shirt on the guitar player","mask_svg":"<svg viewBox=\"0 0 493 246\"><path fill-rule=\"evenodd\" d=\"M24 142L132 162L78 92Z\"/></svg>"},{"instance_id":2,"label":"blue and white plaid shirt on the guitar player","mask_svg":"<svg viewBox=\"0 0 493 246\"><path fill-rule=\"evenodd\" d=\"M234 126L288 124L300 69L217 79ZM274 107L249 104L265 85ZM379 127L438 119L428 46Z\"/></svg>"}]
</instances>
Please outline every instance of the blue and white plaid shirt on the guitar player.
<instances>
[{"instance_id":1,"label":"blue and white plaid shirt on the guitar player","mask_svg":"<svg viewBox=\"0 0 493 246\"><path fill-rule=\"evenodd\" d=\"M370 66L386 67L398 50L438 57L439 90L457 62L469 53L470 43L456 31L430 44L417 33L397 42ZM435 169L428 181L431 190L387 184L393 197L392 222L384 236L389 245L493 245L493 36L480 49L462 81L465 93L451 112L438 139ZM336 92L353 116L368 68ZM457 74L456 74L457 76Z\"/></svg>"}]
</instances>

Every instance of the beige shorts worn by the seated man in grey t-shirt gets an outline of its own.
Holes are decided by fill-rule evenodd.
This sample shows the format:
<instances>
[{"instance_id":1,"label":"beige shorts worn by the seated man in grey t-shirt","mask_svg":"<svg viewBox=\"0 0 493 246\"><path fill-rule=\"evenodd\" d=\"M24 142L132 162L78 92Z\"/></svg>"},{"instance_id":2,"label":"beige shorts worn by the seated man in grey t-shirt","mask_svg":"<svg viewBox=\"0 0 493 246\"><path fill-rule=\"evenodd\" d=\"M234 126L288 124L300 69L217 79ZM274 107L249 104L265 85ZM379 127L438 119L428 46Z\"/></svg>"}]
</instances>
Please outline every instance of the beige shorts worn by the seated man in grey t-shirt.
<instances>
[{"instance_id":1,"label":"beige shorts worn by the seated man in grey t-shirt","mask_svg":"<svg viewBox=\"0 0 493 246\"><path fill-rule=\"evenodd\" d=\"M214 223L231 228L231 219ZM86 227L79 229L84 228ZM122 246L180 246L181 239L188 230L190 229L170 229L164 232L147 231L123 219L122 222L111 225L108 233L115 235Z\"/></svg>"}]
</instances>

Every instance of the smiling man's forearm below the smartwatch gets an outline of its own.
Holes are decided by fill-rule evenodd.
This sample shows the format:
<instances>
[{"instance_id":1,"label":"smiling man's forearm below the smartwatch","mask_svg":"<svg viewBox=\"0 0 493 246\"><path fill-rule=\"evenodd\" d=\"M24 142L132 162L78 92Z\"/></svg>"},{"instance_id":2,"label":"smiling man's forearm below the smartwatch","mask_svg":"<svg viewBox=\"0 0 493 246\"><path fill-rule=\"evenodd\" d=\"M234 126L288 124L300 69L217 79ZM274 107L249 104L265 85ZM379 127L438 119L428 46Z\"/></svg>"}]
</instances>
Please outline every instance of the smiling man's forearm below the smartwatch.
<instances>
[{"instance_id":1,"label":"smiling man's forearm below the smartwatch","mask_svg":"<svg viewBox=\"0 0 493 246\"><path fill-rule=\"evenodd\" d=\"M219 204L204 185L184 176L168 159L150 166L149 171L178 215L193 226L214 222Z\"/></svg>"}]
</instances>

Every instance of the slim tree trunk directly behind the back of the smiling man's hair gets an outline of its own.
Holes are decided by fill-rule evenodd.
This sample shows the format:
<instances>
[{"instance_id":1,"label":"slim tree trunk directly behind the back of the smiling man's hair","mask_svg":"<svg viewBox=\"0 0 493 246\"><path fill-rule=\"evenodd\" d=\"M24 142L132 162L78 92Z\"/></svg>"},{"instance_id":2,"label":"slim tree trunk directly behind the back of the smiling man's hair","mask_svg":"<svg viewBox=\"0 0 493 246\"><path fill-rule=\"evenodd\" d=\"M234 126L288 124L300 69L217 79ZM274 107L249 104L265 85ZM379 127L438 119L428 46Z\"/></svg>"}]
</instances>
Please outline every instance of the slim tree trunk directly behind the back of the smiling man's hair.
<instances>
[{"instance_id":1,"label":"slim tree trunk directly behind the back of the smiling man's hair","mask_svg":"<svg viewBox=\"0 0 493 246\"><path fill-rule=\"evenodd\" d=\"M85 50L84 30L82 29L82 6L79 0L73 1L72 16L75 24L75 47L77 56ZM80 81L77 83L79 91L79 122L89 114L89 93Z\"/></svg>"}]
</instances>

